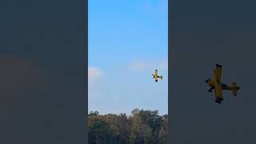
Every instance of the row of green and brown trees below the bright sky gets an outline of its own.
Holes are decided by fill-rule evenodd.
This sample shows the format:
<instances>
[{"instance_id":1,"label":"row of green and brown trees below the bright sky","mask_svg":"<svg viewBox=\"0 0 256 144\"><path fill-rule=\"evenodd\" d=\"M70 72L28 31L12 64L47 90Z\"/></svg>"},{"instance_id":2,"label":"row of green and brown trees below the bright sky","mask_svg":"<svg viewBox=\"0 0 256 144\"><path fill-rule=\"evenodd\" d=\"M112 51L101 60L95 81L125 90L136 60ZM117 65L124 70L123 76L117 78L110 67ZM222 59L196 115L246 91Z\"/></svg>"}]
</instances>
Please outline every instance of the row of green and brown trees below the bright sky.
<instances>
[{"instance_id":1,"label":"row of green and brown trees below the bright sky","mask_svg":"<svg viewBox=\"0 0 256 144\"><path fill-rule=\"evenodd\" d=\"M166 144L168 116L158 110L132 110L126 114L100 115L90 111L90 144Z\"/></svg>"}]
</instances>

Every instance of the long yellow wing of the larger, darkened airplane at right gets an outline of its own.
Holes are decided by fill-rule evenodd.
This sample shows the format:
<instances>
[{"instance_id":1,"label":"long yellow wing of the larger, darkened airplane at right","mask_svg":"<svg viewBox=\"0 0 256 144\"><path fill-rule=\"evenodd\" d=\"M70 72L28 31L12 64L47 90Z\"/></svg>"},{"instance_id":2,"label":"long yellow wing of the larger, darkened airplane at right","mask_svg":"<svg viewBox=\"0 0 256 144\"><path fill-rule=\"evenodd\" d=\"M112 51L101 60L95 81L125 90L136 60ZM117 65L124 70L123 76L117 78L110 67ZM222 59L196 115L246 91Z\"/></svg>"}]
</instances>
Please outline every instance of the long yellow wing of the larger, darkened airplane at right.
<instances>
[{"instance_id":1,"label":"long yellow wing of the larger, darkened airplane at right","mask_svg":"<svg viewBox=\"0 0 256 144\"><path fill-rule=\"evenodd\" d=\"M223 100L222 96L222 66L216 65L216 69L214 70L214 82L215 82L215 97L218 100Z\"/></svg>"}]
</instances>

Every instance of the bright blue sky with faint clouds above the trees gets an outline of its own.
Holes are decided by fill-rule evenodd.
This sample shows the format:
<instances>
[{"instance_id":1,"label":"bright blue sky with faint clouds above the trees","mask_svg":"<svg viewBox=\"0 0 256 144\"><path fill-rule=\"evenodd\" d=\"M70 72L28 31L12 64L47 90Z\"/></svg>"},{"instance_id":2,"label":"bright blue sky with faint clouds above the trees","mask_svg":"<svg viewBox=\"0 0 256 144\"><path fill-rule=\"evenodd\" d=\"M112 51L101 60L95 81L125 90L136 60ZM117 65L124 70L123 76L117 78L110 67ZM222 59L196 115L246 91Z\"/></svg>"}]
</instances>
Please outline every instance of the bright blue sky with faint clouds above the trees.
<instances>
[{"instance_id":1,"label":"bright blue sky with faint clouds above the trees","mask_svg":"<svg viewBox=\"0 0 256 144\"><path fill-rule=\"evenodd\" d=\"M89 0L89 111L167 114L167 22L167 0Z\"/></svg>"}]
</instances>

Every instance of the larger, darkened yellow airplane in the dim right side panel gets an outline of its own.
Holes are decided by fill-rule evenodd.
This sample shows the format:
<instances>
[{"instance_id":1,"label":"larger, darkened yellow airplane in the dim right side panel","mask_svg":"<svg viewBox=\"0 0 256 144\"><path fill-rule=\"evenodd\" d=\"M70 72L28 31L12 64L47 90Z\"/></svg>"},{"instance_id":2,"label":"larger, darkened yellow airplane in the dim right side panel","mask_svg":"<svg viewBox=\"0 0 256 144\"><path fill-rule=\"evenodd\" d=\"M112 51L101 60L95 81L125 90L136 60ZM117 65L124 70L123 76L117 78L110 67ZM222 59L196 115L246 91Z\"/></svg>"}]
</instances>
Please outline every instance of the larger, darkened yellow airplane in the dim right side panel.
<instances>
[{"instance_id":1,"label":"larger, darkened yellow airplane in the dim right side panel","mask_svg":"<svg viewBox=\"0 0 256 144\"><path fill-rule=\"evenodd\" d=\"M230 86L222 83L222 66L218 64L216 64L214 69L214 78L206 79L206 83L210 86L208 92L213 92L212 90L214 90L215 102L217 103L222 103L223 101L222 90L231 90L232 94L237 96L240 89L236 82L232 82Z\"/></svg>"}]
</instances>

